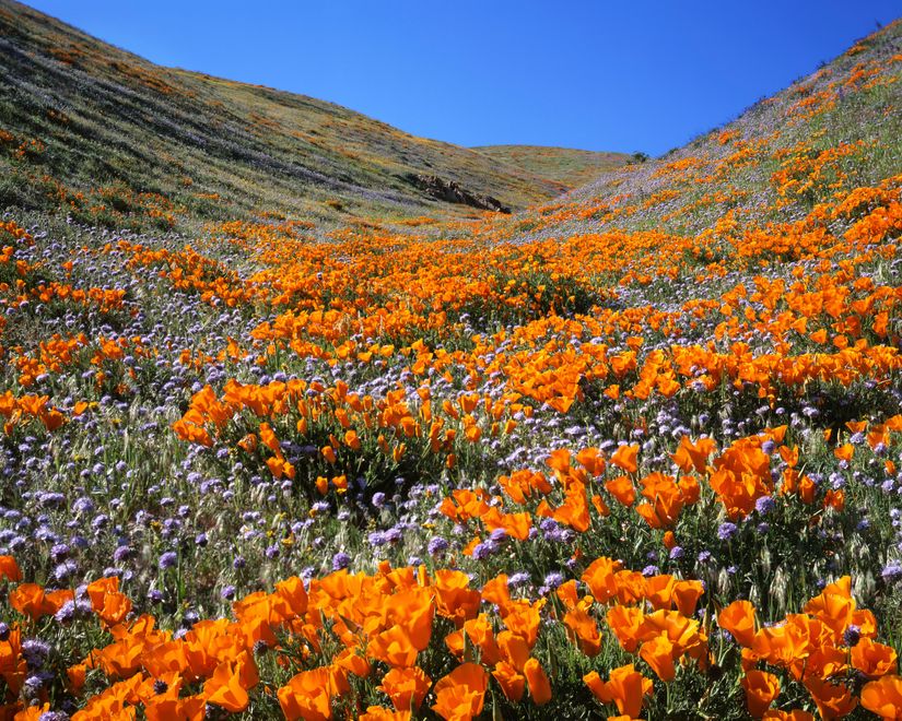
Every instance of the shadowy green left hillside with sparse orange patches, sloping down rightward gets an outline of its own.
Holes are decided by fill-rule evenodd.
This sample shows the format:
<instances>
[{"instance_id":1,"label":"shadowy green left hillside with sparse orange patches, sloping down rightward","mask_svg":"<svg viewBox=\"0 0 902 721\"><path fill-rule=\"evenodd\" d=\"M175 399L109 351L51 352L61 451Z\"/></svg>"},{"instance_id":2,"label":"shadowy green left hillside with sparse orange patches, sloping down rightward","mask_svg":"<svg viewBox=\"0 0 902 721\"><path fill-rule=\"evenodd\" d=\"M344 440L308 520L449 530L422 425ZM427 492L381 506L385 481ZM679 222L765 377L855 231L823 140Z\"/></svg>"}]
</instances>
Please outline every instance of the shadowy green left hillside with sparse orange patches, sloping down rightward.
<instances>
[{"instance_id":1,"label":"shadowy green left hillside with sparse orange patches, sloping down rightward","mask_svg":"<svg viewBox=\"0 0 902 721\"><path fill-rule=\"evenodd\" d=\"M522 208L566 186L301 95L156 67L19 3L0 2L0 205L77 215L155 204L224 217L472 211L418 175ZM116 206L118 205L118 211ZM113 214L114 217L105 215Z\"/></svg>"}]
</instances>

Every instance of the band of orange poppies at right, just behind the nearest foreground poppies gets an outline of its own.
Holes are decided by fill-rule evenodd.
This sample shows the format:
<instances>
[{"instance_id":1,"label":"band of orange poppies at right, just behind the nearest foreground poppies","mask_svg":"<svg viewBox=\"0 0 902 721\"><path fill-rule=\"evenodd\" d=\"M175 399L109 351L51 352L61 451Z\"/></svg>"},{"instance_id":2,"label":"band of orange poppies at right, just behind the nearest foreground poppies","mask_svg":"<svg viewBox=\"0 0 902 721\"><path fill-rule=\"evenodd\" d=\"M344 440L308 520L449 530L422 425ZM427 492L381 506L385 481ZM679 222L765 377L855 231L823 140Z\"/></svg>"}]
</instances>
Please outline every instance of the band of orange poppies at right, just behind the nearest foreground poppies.
<instances>
[{"instance_id":1,"label":"band of orange poppies at right, just behind the nearest foreground poppies","mask_svg":"<svg viewBox=\"0 0 902 721\"><path fill-rule=\"evenodd\" d=\"M547 460L553 478L522 469L497 478L504 497L492 498L480 488L456 489L443 500L441 511L455 523L467 525L469 521L478 520L487 533L504 529L511 537L525 540L534 517L552 518L584 533L591 528L594 517L608 517L614 503L633 508L653 530L672 531L683 508L698 503L706 489L733 520L749 516L759 499L773 495L815 505L815 519L820 508L842 510L844 492L818 489L799 470L798 448L784 444L786 429L786 426L780 426L739 438L719 453L711 438L692 441L683 436L671 454L675 465L682 472L679 476L660 471L640 474L637 445L621 445L610 457L598 448L584 448L575 458L570 450L559 449ZM902 416L869 427L866 422L850 422L847 429L850 433L867 432L867 442L874 449L881 444L889 445L893 433L902 430ZM770 456L762 450L765 442L772 446ZM851 461L854 447L846 442L834 452L836 458ZM777 481L772 474L772 458L785 465ZM609 470L613 473L606 473ZM600 484L604 493L591 493L590 481ZM555 498L561 499L557 505ZM516 510L505 512L505 501L512 501ZM520 510L523 507L530 510ZM481 536L477 533L465 553L471 552L480 542Z\"/></svg>"}]
</instances>

